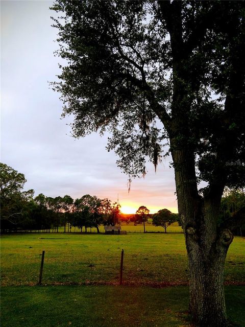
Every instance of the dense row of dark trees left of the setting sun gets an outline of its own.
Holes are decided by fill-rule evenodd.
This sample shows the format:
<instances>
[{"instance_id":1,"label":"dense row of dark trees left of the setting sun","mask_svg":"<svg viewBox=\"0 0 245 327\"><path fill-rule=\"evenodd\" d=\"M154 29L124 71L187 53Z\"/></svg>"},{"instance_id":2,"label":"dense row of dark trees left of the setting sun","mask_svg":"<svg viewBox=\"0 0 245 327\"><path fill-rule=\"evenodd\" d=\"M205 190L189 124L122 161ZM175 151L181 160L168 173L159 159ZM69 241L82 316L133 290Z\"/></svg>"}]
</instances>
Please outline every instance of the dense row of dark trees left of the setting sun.
<instances>
[{"instance_id":1,"label":"dense row of dark trees left of the setting sun","mask_svg":"<svg viewBox=\"0 0 245 327\"><path fill-rule=\"evenodd\" d=\"M26 179L11 167L1 167L1 231L18 230L58 232L63 226L64 232L71 227L96 228L100 225L115 225L119 222L120 206L111 200L99 199L96 196L84 195L72 199L64 197L47 197L34 191L22 191Z\"/></svg>"}]
</instances>

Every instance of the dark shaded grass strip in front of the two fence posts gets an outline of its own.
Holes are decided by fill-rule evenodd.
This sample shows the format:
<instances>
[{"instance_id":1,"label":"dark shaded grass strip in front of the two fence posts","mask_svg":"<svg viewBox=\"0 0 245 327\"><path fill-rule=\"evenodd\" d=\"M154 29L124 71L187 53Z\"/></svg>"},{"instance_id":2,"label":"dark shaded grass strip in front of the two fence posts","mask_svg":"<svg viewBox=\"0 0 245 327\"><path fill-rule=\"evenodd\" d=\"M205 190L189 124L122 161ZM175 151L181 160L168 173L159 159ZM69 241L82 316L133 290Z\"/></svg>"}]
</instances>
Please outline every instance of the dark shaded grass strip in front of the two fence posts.
<instances>
[{"instance_id":1,"label":"dark shaded grass strip in front of the two fence posts","mask_svg":"<svg viewBox=\"0 0 245 327\"><path fill-rule=\"evenodd\" d=\"M245 324L245 288L226 287L227 312ZM188 287L3 287L2 327L187 327Z\"/></svg>"}]
</instances>

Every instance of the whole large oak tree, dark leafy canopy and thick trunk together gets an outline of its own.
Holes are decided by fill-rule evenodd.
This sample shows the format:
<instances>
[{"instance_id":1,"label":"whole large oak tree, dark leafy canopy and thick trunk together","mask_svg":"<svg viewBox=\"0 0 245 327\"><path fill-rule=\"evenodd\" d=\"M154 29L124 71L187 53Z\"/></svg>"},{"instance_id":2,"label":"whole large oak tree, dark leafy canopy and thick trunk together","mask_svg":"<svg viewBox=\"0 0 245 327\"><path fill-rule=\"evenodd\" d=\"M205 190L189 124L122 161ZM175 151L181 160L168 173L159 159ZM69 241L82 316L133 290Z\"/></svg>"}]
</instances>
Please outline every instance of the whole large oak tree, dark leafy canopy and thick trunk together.
<instances>
[{"instance_id":1,"label":"whole large oak tree, dark leafy canopy and thick trunk together","mask_svg":"<svg viewBox=\"0 0 245 327\"><path fill-rule=\"evenodd\" d=\"M225 186L245 180L244 2L57 0L52 9L66 60L53 87L74 136L109 130L108 150L132 177L171 154L190 311L199 326L227 326L233 236L218 213Z\"/></svg>"}]
</instances>

